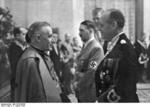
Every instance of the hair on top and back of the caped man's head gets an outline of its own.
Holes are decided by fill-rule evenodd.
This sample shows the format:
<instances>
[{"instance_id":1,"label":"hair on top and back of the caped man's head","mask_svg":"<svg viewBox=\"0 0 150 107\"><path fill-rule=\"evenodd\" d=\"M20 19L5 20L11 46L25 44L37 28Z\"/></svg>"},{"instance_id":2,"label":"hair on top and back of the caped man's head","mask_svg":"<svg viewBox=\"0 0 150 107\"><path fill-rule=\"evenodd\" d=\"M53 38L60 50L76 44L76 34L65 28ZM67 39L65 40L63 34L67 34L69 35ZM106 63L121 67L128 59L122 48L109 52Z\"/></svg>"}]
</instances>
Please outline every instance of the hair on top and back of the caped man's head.
<instances>
[{"instance_id":1,"label":"hair on top and back of the caped man's head","mask_svg":"<svg viewBox=\"0 0 150 107\"><path fill-rule=\"evenodd\" d=\"M48 22L34 22L28 30L27 36L30 38L33 37L33 35L35 35L35 33L37 33L42 27L44 26L50 26L50 24Z\"/></svg>"}]
</instances>

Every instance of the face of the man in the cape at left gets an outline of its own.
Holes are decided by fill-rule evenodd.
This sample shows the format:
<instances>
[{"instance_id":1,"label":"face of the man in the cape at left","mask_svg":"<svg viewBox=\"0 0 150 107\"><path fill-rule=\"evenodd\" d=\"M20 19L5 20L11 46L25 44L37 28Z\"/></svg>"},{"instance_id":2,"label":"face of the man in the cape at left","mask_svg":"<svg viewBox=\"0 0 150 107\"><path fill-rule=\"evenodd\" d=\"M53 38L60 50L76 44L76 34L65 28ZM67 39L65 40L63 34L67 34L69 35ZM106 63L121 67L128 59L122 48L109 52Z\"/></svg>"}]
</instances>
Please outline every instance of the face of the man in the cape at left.
<instances>
[{"instance_id":1,"label":"face of the man in the cape at left","mask_svg":"<svg viewBox=\"0 0 150 107\"><path fill-rule=\"evenodd\" d=\"M40 46L43 51L48 51L52 47L52 28L44 26L41 28Z\"/></svg>"}]
</instances>

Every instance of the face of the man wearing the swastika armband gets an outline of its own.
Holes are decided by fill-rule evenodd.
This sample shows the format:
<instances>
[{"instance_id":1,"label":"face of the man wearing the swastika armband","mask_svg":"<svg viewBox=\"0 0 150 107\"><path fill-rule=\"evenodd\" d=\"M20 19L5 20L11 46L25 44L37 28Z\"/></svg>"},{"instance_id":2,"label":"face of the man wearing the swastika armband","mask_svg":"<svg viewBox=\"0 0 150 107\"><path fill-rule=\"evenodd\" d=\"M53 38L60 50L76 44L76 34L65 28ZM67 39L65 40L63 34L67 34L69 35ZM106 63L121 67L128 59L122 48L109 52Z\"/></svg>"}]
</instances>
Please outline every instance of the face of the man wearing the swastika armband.
<instances>
[{"instance_id":1,"label":"face of the man wearing the swastika armband","mask_svg":"<svg viewBox=\"0 0 150 107\"><path fill-rule=\"evenodd\" d=\"M79 35L81 37L81 40L83 42L86 42L89 40L90 31L87 29L87 26L81 24L79 28Z\"/></svg>"}]
</instances>

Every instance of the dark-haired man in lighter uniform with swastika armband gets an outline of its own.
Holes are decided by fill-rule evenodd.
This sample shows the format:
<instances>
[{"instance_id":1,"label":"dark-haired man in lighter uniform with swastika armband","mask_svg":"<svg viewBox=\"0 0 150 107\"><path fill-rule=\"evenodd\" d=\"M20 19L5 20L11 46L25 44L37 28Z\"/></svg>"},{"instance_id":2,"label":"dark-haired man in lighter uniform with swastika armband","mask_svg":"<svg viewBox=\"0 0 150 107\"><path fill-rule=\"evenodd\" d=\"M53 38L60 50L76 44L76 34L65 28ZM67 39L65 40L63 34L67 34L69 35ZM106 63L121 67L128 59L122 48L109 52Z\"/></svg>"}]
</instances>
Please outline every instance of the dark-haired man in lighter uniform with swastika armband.
<instances>
[{"instance_id":1,"label":"dark-haired man in lighter uniform with swastika armband","mask_svg":"<svg viewBox=\"0 0 150 107\"><path fill-rule=\"evenodd\" d=\"M77 57L77 67L73 86L78 102L95 102L95 70L104 57L102 46L94 38L94 24L83 21L80 24L80 37L84 42Z\"/></svg>"}]
</instances>

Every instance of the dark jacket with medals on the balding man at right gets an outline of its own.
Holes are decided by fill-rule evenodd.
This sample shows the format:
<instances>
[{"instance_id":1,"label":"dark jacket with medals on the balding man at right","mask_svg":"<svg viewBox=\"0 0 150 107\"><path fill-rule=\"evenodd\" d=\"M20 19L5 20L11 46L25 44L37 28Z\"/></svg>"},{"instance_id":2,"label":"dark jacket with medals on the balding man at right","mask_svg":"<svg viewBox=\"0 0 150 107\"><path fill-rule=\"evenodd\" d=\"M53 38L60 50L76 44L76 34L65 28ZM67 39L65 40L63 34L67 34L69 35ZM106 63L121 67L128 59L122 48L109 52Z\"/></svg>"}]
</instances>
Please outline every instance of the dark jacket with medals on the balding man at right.
<instances>
[{"instance_id":1,"label":"dark jacket with medals on the balding man at right","mask_svg":"<svg viewBox=\"0 0 150 107\"><path fill-rule=\"evenodd\" d=\"M109 63L111 60L113 63ZM116 66L117 68L114 69L113 65L116 64L118 67ZM112 82L114 73L116 73L116 76L114 82ZM130 40L127 39L124 33L119 35L119 39L114 48L98 66L95 74L95 82L97 97L106 92L111 85L115 84L114 89L121 97L119 102L138 102L136 94L136 54ZM104 98L104 102L108 102L107 97Z\"/></svg>"}]
</instances>

